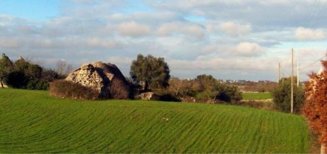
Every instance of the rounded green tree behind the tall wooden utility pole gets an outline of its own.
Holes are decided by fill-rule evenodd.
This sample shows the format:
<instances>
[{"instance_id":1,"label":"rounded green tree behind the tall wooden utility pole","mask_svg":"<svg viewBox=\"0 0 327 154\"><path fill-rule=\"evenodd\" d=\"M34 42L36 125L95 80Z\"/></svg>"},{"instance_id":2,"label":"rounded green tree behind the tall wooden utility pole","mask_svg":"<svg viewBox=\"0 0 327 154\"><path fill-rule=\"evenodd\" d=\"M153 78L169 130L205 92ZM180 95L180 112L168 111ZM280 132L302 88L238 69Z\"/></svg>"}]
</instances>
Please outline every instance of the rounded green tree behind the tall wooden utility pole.
<instances>
[{"instance_id":1,"label":"rounded green tree behind the tall wooden utility pole","mask_svg":"<svg viewBox=\"0 0 327 154\"><path fill-rule=\"evenodd\" d=\"M284 78L284 82L279 81L278 86L272 91L273 101L275 105L284 112L291 111L291 78ZM296 83L296 77L294 77L294 82ZM304 89L296 85L293 86L293 109L295 113L301 112L303 102L305 101L305 91Z\"/></svg>"}]
</instances>

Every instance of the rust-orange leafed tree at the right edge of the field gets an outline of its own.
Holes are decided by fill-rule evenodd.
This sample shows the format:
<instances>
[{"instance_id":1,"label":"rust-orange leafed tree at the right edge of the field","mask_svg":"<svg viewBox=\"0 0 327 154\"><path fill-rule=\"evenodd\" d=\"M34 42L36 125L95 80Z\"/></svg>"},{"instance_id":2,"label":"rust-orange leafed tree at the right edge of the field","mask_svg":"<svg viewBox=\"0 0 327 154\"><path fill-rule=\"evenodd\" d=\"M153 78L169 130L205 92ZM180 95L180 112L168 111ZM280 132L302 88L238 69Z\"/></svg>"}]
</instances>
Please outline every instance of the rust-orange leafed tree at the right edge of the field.
<instances>
[{"instance_id":1,"label":"rust-orange leafed tree at the right edge of the field","mask_svg":"<svg viewBox=\"0 0 327 154\"><path fill-rule=\"evenodd\" d=\"M323 70L310 73L306 83L306 101L303 114L309 119L310 126L318 135L321 153L325 153L327 145L327 61L321 61Z\"/></svg>"}]
</instances>

